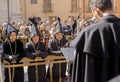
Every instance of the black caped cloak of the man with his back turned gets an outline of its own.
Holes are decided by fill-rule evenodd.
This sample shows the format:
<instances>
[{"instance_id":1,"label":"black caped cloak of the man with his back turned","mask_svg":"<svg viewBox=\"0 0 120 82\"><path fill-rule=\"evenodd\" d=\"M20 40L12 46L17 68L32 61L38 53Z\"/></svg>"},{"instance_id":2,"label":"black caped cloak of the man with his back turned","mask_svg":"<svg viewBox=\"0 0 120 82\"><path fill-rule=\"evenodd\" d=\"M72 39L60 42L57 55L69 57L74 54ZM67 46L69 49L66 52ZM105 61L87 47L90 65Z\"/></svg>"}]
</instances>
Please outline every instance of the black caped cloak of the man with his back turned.
<instances>
[{"instance_id":1,"label":"black caped cloak of the man with his back turned","mask_svg":"<svg viewBox=\"0 0 120 82\"><path fill-rule=\"evenodd\" d=\"M107 82L120 72L120 19L114 15L83 29L71 42L76 47L71 82Z\"/></svg>"}]
</instances>

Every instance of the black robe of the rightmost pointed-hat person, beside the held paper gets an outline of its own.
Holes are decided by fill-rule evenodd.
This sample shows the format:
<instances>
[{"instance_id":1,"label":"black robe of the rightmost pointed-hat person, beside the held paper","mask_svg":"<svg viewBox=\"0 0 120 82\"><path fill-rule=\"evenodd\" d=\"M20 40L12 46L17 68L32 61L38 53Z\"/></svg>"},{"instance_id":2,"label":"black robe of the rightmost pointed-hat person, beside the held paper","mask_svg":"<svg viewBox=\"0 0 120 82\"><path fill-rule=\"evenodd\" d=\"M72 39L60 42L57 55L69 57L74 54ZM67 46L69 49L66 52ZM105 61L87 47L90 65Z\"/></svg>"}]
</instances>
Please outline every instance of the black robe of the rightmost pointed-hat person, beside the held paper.
<instances>
[{"instance_id":1,"label":"black robe of the rightmost pointed-hat person, beside the held paper","mask_svg":"<svg viewBox=\"0 0 120 82\"><path fill-rule=\"evenodd\" d=\"M57 41L56 39L52 39L49 41L49 45L48 45L48 48L49 48L49 54L50 55L55 55L55 56L60 56L62 55L62 53L53 53L54 51L60 51L60 48L61 47L66 47L67 45L67 40L63 37L63 39L59 42ZM54 60L56 61L56 60ZM61 65L61 78L65 78L66 77L66 65L67 63L61 63L61 64L53 64L53 67L52 67L52 74L53 74L53 79L58 81L59 80L59 66ZM50 69L48 69L48 72L47 72L47 78L49 79L50 78Z\"/></svg>"}]
</instances>

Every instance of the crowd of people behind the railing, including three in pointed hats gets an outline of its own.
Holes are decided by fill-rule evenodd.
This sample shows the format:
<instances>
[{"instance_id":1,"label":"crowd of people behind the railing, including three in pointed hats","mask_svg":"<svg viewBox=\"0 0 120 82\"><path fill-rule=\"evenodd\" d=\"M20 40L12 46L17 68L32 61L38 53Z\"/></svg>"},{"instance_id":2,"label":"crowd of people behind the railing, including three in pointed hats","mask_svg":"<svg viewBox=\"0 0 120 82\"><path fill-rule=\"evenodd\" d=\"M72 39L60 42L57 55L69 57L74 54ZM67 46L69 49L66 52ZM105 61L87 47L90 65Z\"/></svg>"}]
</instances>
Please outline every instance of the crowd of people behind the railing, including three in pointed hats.
<instances>
[{"instance_id":1,"label":"crowd of people behind the railing, including three in pointed hats","mask_svg":"<svg viewBox=\"0 0 120 82\"><path fill-rule=\"evenodd\" d=\"M21 64L20 60L24 57L35 59L36 57L45 58L48 55L63 55L60 48L69 47L69 42L77 35L77 20L70 17L63 20L59 17L56 21L37 21L34 17L28 19L28 23L15 21L3 23L0 26L0 40L3 44L2 59L11 65ZM30 62L33 63L33 62ZM46 65L28 66L29 82L49 82L50 69L46 73ZM53 81L59 82L59 64L54 64ZM61 64L61 77L67 79L67 63ZM72 65L70 76L72 73ZM11 68L11 78L9 78L8 68L4 70L5 82L24 82L23 67ZM47 80L48 79L48 80Z\"/></svg>"}]
</instances>

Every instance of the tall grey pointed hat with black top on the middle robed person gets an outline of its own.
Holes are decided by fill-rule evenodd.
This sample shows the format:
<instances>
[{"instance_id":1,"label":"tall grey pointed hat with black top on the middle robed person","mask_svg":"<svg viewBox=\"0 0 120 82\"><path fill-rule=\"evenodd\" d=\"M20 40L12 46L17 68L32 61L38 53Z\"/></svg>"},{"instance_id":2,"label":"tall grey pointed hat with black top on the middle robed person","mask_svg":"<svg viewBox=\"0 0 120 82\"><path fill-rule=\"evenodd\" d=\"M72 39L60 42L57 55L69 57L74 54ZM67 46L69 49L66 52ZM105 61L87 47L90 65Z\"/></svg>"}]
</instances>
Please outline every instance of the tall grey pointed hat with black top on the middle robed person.
<instances>
[{"instance_id":1,"label":"tall grey pointed hat with black top on the middle robed person","mask_svg":"<svg viewBox=\"0 0 120 82\"><path fill-rule=\"evenodd\" d=\"M36 22L35 18L34 17L29 18L29 21L31 21L31 23L32 23L31 32L30 32L30 38L32 38L35 35L40 36L40 33L38 31L38 28L37 28L37 22Z\"/></svg>"}]
</instances>

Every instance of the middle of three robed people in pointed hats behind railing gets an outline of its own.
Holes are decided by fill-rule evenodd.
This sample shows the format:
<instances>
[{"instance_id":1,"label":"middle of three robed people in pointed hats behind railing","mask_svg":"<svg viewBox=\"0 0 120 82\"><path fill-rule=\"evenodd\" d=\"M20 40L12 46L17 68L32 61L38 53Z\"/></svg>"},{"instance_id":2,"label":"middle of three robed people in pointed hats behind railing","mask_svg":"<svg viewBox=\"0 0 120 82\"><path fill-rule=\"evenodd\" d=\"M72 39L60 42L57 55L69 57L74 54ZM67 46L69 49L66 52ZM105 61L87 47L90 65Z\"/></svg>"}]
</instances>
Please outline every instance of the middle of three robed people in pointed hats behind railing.
<instances>
[{"instance_id":1,"label":"middle of three robed people in pointed hats behind railing","mask_svg":"<svg viewBox=\"0 0 120 82\"><path fill-rule=\"evenodd\" d=\"M31 42L26 43L26 56L31 59L35 59L37 56L45 58L47 56L46 46L40 42L40 36L36 31L38 29L34 24L35 20L31 19L31 22L33 30L30 34ZM46 82L46 65L29 66L28 80L29 82Z\"/></svg>"}]
</instances>

